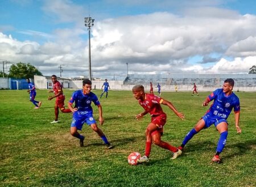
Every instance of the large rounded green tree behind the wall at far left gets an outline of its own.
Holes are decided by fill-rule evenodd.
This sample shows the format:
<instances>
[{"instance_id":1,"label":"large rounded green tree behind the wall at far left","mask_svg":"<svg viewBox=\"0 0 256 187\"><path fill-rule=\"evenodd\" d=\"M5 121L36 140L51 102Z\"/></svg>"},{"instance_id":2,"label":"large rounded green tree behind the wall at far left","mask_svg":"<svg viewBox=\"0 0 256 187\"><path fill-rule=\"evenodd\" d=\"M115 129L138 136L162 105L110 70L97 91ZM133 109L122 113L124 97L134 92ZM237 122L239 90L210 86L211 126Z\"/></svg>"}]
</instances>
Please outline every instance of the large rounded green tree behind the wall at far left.
<instances>
[{"instance_id":1,"label":"large rounded green tree behind the wall at far left","mask_svg":"<svg viewBox=\"0 0 256 187\"><path fill-rule=\"evenodd\" d=\"M16 63L16 65L11 65L9 77L12 78L34 78L34 75L43 75L35 66L30 63Z\"/></svg>"}]
</instances>

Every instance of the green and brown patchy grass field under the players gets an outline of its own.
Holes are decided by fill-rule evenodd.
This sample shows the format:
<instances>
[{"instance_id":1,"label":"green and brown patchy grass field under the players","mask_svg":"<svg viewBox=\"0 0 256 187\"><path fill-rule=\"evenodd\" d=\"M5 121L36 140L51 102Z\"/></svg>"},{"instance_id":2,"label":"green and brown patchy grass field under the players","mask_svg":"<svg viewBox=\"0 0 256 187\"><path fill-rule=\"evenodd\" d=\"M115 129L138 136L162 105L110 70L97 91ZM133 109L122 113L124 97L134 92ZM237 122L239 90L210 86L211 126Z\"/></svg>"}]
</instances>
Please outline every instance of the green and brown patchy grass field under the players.
<instances>
[{"instance_id":1,"label":"green and brown patchy grass field under the players","mask_svg":"<svg viewBox=\"0 0 256 187\"><path fill-rule=\"evenodd\" d=\"M72 90L64 90L67 104ZM100 91L94 91L98 96ZM256 186L256 93L237 92L241 103L240 126L236 133L233 112L229 116L229 135L222 164L211 163L218 132L211 126L197 134L183 155L171 160L169 151L152 146L150 162L131 166L130 152L144 152L144 129L150 116L141 121L135 114L143 109L131 91L110 91L100 99L105 124L101 126L115 148L108 150L87 125L85 147L69 134L70 113L54 120L54 100L46 90L37 91L40 109L33 109L26 90L0 91L0 186ZM209 92L191 96L190 92L163 92L179 112L182 121L163 106L168 115L163 140L179 146L207 108L201 107ZM94 116L98 111L94 107Z\"/></svg>"}]
</instances>

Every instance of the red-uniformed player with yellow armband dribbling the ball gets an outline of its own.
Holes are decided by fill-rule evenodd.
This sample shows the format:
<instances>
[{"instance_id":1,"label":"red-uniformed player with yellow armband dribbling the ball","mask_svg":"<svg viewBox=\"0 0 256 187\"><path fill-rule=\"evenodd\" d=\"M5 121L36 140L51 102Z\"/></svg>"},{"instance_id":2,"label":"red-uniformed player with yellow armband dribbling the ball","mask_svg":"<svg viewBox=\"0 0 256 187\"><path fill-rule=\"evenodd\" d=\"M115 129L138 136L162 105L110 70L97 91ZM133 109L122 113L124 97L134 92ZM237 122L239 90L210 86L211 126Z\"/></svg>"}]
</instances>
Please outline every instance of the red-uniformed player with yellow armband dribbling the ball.
<instances>
[{"instance_id":1,"label":"red-uniformed player with yellow armband dribbling the ball","mask_svg":"<svg viewBox=\"0 0 256 187\"><path fill-rule=\"evenodd\" d=\"M152 142L154 142L154 144L159 147L172 151L173 156L171 159L176 159L182 151L161 140L161 136L163 134L163 126L166 124L167 116L166 113L163 112L160 104L167 105L170 109L172 109L172 111L174 111L177 117L181 119L184 119L184 114L178 112L170 101L164 100L156 95L146 94L144 92L144 87L141 84L135 85L133 87L133 96L144 108L144 112L136 115L135 118L139 120L147 113L149 113L151 116L151 122L148 124L146 129L145 154L138 160L138 163L148 162Z\"/></svg>"}]
</instances>

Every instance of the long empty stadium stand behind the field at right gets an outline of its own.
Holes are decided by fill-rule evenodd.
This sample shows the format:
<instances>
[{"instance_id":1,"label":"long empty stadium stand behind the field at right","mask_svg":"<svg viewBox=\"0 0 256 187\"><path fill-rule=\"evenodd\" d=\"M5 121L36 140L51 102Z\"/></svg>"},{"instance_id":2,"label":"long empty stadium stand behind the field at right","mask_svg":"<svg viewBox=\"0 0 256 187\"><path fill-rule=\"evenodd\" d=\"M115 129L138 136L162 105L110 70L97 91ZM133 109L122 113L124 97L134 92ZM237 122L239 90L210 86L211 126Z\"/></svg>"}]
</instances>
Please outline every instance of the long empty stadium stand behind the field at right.
<instances>
[{"instance_id":1,"label":"long empty stadium stand behind the field at right","mask_svg":"<svg viewBox=\"0 0 256 187\"><path fill-rule=\"evenodd\" d=\"M234 89L246 87L246 90L249 88L249 90L255 91L256 74L130 74L123 81L123 84L147 85L152 82L153 85L156 85L160 83L163 90L173 90L173 87L177 84L181 88L180 91L185 91L190 90L193 83L196 83L200 90L208 91L221 87L227 78L235 80Z\"/></svg>"}]
</instances>

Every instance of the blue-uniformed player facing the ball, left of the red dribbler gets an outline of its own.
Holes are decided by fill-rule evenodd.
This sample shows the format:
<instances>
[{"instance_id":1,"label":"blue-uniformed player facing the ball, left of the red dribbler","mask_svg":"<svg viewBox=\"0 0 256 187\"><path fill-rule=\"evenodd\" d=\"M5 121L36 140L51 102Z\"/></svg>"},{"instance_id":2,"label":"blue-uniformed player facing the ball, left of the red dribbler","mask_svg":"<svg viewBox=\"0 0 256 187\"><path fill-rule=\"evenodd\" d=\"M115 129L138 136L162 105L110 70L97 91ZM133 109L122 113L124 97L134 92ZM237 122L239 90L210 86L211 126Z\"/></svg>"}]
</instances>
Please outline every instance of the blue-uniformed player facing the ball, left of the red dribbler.
<instances>
[{"instance_id":1,"label":"blue-uniformed player facing the ball, left of the red dribbler","mask_svg":"<svg viewBox=\"0 0 256 187\"><path fill-rule=\"evenodd\" d=\"M96 124L96 120L93 117L93 109L92 109L92 102L97 105L99 116L100 116L100 124L102 125L104 122L104 118L102 115L102 107L98 97L90 92L92 90L92 82L89 79L85 79L82 81L82 90L77 90L73 92L73 95L68 103L68 108L73 112L73 120L71 122L71 135L73 137L80 139L80 146L84 146L84 136L79 134L77 130L82 130L82 125L86 123L87 125L92 128L104 141L106 146L110 149L113 148L110 145L108 139L106 138L105 134L102 132L100 128L98 128ZM75 102L75 107L73 108L73 103Z\"/></svg>"}]
</instances>

